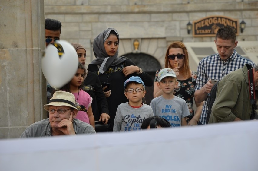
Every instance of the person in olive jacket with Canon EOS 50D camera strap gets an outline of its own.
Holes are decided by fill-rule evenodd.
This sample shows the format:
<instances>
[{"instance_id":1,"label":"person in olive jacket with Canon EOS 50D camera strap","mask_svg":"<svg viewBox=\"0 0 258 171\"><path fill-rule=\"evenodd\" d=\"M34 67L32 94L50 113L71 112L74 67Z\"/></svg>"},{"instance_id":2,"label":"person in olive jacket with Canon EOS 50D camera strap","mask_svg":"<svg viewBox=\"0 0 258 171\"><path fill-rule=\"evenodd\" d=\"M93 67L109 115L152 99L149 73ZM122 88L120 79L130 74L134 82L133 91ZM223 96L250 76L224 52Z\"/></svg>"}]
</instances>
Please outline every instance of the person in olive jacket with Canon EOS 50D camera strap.
<instances>
[{"instance_id":1,"label":"person in olive jacket with Canon EOS 50D camera strap","mask_svg":"<svg viewBox=\"0 0 258 171\"><path fill-rule=\"evenodd\" d=\"M257 99L258 66L246 64L218 83L209 123L258 119Z\"/></svg>"}]
</instances>

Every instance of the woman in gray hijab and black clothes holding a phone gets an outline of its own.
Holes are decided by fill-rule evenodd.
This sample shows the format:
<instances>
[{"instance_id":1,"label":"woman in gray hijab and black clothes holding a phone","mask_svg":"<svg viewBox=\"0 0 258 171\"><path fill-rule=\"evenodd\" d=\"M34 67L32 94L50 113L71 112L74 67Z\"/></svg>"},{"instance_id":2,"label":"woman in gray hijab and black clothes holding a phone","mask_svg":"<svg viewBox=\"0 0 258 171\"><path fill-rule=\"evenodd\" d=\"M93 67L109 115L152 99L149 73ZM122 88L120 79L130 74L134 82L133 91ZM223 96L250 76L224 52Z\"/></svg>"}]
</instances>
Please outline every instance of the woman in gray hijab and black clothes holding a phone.
<instances>
[{"instance_id":1,"label":"woman in gray hijab and black clothes holding a phone","mask_svg":"<svg viewBox=\"0 0 258 171\"><path fill-rule=\"evenodd\" d=\"M131 76L139 76L146 86L153 84L150 75L137 67L134 62L124 56L118 57L118 46L117 30L114 28L104 30L93 41L93 52L96 59L88 65L89 71L98 74L102 86L103 82L109 83L109 90L106 91L107 86L103 87L103 90L108 100L110 131L113 131L117 106L128 102L124 95L124 81Z\"/></svg>"}]
</instances>

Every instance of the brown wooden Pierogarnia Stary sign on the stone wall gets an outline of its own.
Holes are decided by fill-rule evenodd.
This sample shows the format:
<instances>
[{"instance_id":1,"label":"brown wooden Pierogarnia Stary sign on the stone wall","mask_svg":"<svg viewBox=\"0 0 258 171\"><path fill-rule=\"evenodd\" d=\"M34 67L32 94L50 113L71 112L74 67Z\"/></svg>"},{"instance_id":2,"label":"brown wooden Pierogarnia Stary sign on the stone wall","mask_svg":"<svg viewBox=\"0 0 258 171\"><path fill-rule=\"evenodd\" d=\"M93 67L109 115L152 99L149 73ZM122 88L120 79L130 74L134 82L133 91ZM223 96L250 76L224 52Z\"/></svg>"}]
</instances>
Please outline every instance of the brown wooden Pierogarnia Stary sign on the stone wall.
<instances>
[{"instance_id":1,"label":"brown wooden Pierogarnia Stary sign on the stone wall","mask_svg":"<svg viewBox=\"0 0 258 171\"><path fill-rule=\"evenodd\" d=\"M209 16L193 21L193 37L215 36L218 29L223 26L230 26L239 33L238 20L225 16Z\"/></svg>"}]
</instances>

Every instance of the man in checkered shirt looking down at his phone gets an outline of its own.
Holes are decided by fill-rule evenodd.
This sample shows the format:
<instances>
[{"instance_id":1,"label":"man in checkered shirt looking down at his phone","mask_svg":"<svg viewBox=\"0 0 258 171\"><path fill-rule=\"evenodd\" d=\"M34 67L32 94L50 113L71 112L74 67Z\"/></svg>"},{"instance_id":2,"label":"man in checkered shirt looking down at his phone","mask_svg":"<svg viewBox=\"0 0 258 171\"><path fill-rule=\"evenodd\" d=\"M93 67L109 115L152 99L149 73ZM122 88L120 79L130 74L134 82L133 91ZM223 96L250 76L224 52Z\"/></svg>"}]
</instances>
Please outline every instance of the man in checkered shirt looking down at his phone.
<instances>
[{"instance_id":1,"label":"man in checkered shirt looking down at his phone","mask_svg":"<svg viewBox=\"0 0 258 171\"><path fill-rule=\"evenodd\" d=\"M237 54L236 30L232 27L221 27L215 36L217 54L203 58L197 69L197 83L194 98L197 102L204 102L199 125L206 124L207 101L214 85L211 80L221 80L236 69L243 68L245 64L255 67L255 63Z\"/></svg>"}]
</instances>

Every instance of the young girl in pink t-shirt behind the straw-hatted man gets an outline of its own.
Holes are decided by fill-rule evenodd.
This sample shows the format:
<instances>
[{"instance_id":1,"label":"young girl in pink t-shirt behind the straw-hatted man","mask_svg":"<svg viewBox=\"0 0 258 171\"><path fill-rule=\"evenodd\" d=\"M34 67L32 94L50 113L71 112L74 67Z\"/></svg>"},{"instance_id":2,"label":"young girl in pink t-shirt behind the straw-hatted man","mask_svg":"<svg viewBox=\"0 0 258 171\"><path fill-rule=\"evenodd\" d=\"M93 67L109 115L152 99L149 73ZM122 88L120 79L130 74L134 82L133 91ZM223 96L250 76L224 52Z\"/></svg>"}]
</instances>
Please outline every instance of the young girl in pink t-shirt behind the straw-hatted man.
<instances>
[{"instance_id":1,"label":"young girl in pink t-shirt behind the straw-hatted man","mask_svg":"<svg viewBox=\"0 0 258 171\"><path fill-rule=\"evenodd\" d=\"M85 78L86 75L86 69L79 62L76 74L68 84L61 88L61 90L68 91L74 95L76 100L75 107L78 109L76 118L95 128L94 116L91 109L92 98L88 93L81 90L83 78Z\"/></svg>"}]
</instances>

